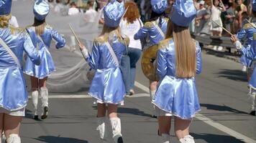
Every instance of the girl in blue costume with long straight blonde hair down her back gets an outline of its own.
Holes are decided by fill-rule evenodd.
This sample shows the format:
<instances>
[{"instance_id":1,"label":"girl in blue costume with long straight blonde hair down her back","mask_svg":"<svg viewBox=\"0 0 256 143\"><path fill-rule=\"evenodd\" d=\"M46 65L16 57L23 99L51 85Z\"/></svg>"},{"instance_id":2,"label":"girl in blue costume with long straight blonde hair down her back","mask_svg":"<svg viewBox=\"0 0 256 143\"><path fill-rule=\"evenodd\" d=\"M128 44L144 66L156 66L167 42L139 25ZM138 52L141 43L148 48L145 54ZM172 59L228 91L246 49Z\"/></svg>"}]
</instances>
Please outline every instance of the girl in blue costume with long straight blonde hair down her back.
<instances>
[{"instance_id":1,"label":"girl in blue costume with long straight blonde hair down her back","mask_svg":"<svg viewBox=\"0 0 256 143\"><path fill-rule=\"evenodd\" d=\"M152 103L159 124L160 143L170 142L171 117L181 143L193 143L189 135L192 118L201 107L196 92L196 74L201 73L201 48L191 39L188 26L196 16L193 0L176 0L170 14L166 39L157 52L160 82Z\"/></svg>"}]
</instances>

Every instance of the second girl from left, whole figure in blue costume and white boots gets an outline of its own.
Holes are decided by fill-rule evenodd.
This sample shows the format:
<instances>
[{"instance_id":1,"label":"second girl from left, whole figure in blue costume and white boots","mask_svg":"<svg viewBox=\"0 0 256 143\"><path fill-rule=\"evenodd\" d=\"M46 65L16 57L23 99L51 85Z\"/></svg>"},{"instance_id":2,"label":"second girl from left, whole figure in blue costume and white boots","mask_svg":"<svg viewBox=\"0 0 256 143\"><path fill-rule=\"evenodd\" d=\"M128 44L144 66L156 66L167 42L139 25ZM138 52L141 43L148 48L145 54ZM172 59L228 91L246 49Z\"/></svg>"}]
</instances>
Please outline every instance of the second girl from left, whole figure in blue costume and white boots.
<instances>
[{"instance_id":1,"label":"second girl from left, whole figure in blue costume and white boots","mask_svg":"<svg viewBox=\"0 0 256 143\"><path fill-rule=\"evenodd\" d=\"M31 79L32 102L34 107L34 119L38 119L37 103L40 92L42 100L41 119L47 118L48 113L48 90L46 87L47 77L55 71L55 65L50 54L50 44L52 39L56 43L56 48L60 49L65 46L63 39L57 31L45 23L45 17L49 14L50 6L45 0L37 0L34 4L35 22L32 26L27 27L27 31L33 41L33 44L39 50L41 64L37 66L31 60L26 61L24 73L28 74Z\"/></svg>"}]
</instances>

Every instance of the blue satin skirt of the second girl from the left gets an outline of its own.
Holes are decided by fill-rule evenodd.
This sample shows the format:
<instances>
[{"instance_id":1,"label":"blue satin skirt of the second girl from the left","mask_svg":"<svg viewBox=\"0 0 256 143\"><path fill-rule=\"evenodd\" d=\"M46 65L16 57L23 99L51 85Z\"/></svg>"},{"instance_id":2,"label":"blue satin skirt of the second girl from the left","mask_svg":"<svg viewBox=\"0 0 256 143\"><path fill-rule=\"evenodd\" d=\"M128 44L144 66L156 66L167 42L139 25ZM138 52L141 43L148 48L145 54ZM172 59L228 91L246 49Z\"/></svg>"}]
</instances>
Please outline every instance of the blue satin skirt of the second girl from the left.
<instances>
[{"instance_id":1,"label":"blue satin skirt of the second girl from the left","mask_svg":"<svg viewBox=\"0 0 256 143\"><path fill-rule=\"evenodd\" d=\"M33 62L27 58L24 73L38 79L44 79L55 71L55 65L50 54L50 51L43 47L39 51L41 64L39 66L33 64Z\"/></svg>"}]
</instances>

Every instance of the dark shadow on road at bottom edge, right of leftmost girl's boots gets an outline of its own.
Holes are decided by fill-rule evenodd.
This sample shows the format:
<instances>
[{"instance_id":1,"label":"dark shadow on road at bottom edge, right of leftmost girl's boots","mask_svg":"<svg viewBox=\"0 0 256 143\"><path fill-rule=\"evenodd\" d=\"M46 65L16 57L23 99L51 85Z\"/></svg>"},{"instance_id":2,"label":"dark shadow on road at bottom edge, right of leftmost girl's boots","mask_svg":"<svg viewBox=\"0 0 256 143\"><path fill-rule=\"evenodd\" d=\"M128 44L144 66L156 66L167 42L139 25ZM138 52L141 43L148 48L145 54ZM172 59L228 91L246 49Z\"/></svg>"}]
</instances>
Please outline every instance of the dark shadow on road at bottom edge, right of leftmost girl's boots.
<instances>
[{"instance_id":1,"label":"dark shadow on road at bottom edge, right of leftmost girl's boots","mask_svg":"<svg viewBox=\"0 0 256 143\"><path fill-rule=\"evenodd\" d=\"M88 143L88 141L86 141L86 140L74 139L74 138L69 138L69 137L40 136L36 139L38 141L47 142L47 143L56 143L56 142L61 142L61 143L70 143L70 142Z\"/></svg>"}]
</instances>

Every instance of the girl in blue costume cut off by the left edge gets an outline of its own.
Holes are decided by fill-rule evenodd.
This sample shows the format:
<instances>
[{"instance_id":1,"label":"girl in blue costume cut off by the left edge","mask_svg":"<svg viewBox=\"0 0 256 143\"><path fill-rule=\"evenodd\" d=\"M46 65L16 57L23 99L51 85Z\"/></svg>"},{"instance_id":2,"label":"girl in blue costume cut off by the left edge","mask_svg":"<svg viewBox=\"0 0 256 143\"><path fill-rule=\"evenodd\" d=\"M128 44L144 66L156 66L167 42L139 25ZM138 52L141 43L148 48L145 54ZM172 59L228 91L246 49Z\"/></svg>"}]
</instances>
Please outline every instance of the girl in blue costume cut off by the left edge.
<instances>
[{"instance_id":1,"label":"girl in blue costume cut off by the left edge","mask_svg":"<svg viewBox=\"0 0 256 143\"><path fill-rule=\"evenodd\" d=\"M26 30L9 25L11 6L12 0L0 1L0 133L4 132L7 143L20 143L19 128L28 99L23 52L37 65L40 55Z\"/></svg>"}]
</instances>

